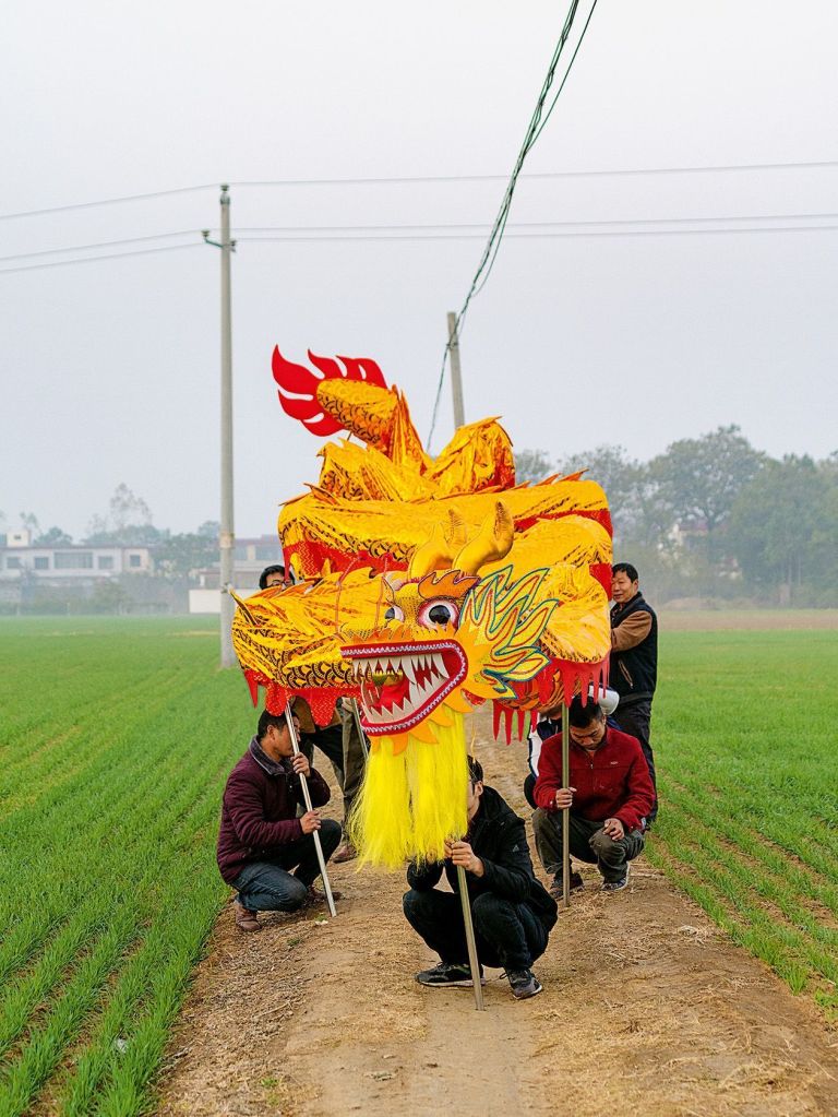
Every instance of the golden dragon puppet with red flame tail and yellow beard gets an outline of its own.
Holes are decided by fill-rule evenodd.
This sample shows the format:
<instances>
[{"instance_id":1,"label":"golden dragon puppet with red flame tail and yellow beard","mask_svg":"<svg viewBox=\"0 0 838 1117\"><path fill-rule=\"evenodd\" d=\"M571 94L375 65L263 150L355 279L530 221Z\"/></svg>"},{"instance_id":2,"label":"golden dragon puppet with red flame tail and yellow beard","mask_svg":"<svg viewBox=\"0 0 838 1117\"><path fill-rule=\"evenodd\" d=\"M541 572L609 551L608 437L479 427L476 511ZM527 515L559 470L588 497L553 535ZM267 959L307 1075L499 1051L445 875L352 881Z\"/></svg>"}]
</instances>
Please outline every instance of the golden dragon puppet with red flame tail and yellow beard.
<instances>
[{"instance_id":1,"label":"golden dragon puppet with red flame tail and yellow beard","mask_svg":"<svg viewBox=\"0 0 838 1117\"><path fill-rule=\"evenodd\" d=\"M579 475L517 485L495 419L432 459L368 359L273 353L285 411L327 442L317 485L279 516L298 583L240 603L233 642L253 701L304 698L319 724L358 701L372 754L353 819L362 861L437 859L465 831L463 715L495 734L589 686L610 650L610 518Z\"/></svg>"}]
</instances>

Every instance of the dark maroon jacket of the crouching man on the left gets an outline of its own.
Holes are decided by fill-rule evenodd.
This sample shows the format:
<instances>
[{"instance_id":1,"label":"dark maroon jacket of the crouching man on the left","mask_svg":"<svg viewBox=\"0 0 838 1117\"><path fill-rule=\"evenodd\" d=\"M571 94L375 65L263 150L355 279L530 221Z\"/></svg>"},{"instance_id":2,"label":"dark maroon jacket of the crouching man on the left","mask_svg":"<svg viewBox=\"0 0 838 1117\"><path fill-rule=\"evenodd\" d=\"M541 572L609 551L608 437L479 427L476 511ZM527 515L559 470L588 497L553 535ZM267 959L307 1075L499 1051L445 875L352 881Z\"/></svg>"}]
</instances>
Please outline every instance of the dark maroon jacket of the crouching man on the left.
<instances>
[{"instance_id":1,"label":"dark maroon jacket of the crouching man on the left","mask_svg":"<svg viewBox=\"0 0 838 1117\"><path fill-rule=\"evenodd\" d=\"M297 808L305 806L300 780L290 762L280 767L276 775L270 774L248 748L228 776L216 860L229 885L249 861L302 838L297 818ZM329 785L314 768L308 790L314 806L328 803Z\"/></svg>"}]
</instances>

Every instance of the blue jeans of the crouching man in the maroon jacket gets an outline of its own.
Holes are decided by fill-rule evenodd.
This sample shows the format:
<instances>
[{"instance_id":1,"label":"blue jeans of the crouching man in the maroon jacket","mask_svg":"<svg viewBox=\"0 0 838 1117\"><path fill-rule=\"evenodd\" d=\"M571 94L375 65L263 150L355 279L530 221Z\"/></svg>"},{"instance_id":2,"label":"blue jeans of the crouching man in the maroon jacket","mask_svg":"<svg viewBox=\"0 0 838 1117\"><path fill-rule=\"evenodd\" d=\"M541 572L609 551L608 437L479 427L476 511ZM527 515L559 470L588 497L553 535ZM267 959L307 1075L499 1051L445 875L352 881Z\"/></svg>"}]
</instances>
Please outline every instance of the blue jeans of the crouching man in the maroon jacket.
<instances>
[{"instance_id":1,"label":"blue jeans of the crouching man in the maroon jacket","mask_svg":"<svg viewBox=\"0 0 838 1117\"><path fill-rule=\"evenodd\" d=\"M320 846L324 860L328 861L340 841L340 823L333 819L320 821ZM291 869L296 868L296 872ZM239 903L251 911L296 911L308 895L309 885L319 877L312 834L281 846L273 853L266 853L259 861L245 865L233 881Z\"/></svg>"}]
</instances>

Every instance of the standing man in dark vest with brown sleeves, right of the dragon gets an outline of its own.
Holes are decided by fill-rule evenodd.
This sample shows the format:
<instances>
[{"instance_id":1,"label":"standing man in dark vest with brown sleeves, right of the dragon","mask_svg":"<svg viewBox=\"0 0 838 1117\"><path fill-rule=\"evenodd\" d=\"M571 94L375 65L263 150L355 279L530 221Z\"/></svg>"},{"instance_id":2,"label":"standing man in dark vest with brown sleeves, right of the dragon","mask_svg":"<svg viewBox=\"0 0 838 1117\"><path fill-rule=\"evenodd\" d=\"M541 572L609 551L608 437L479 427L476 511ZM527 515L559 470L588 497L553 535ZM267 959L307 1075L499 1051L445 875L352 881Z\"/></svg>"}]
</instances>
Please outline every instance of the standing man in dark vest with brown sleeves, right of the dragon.
<instances>
[{"instance_id":1,"label":"standing man in dark vest with brown sleeves, right of the dragon","mask_svg":"<svg viewBox=\"0 0 838 1117\"><path fill-rule=\"evenodd\" d=\"M639 575L628 562L611 569L611 657L608 681L619 695L616 718L624 733L637 737L655 787L655 803L646 820L657 815L655 757L649 744L652 699L657 685L657 617L644 601Z\"/></svg>"}]
</instances>

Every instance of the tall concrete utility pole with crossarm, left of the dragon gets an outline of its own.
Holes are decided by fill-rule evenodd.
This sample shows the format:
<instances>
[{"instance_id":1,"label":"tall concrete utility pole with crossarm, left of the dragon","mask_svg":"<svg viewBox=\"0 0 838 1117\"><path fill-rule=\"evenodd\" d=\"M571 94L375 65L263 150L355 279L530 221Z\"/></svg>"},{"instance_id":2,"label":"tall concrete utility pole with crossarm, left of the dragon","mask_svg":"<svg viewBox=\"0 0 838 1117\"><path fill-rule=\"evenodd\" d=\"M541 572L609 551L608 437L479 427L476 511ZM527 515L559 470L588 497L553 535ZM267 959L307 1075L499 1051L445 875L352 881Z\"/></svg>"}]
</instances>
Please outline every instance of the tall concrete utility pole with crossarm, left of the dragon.
<instances>
[{"instance_id":1,"label":"tall concrete utility pole with crossarm, left of the dragon","mask_svg":"<svg viewBox=\"0 0 838 1117\"><path fill-rule=\"evenodd\" d=\"M230 240L230 188L221 188L221 241L210 240L209 230L203 231L208 245L221 249L221 531L219 548L221 555L221 666L233 667L233 614L235 602L227 592L233 585L233 558L235 555L235 532L233 528L233 343L232 305L230 296L230 254L235 241Z\"/></svg>"}]
</instances>

